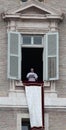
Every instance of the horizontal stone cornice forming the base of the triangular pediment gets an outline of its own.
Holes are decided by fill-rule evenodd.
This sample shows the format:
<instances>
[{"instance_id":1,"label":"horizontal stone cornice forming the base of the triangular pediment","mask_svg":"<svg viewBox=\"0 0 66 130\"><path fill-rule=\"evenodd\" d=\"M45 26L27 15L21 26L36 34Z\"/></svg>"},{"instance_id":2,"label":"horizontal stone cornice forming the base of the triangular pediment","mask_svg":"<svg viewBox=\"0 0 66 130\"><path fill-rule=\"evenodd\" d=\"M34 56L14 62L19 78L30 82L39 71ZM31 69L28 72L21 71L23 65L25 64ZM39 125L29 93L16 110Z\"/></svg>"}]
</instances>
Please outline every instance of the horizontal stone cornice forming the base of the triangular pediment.
<instances>
[{"instance_id":1,"label":"horizontal stone cornice forming the base of the triangular pediment","mask_svg":"<svg viewBox=\"0 0 66 130\"><path fill-rule=\"evenodd\" d=\"M51 14L45 14L45 15L41 15L41 14L3 14L3 19L41 19L41 20L51 20L51 19L63 19L63 16L60 15L51 15Z\"/></svg>"}]
</instances>

